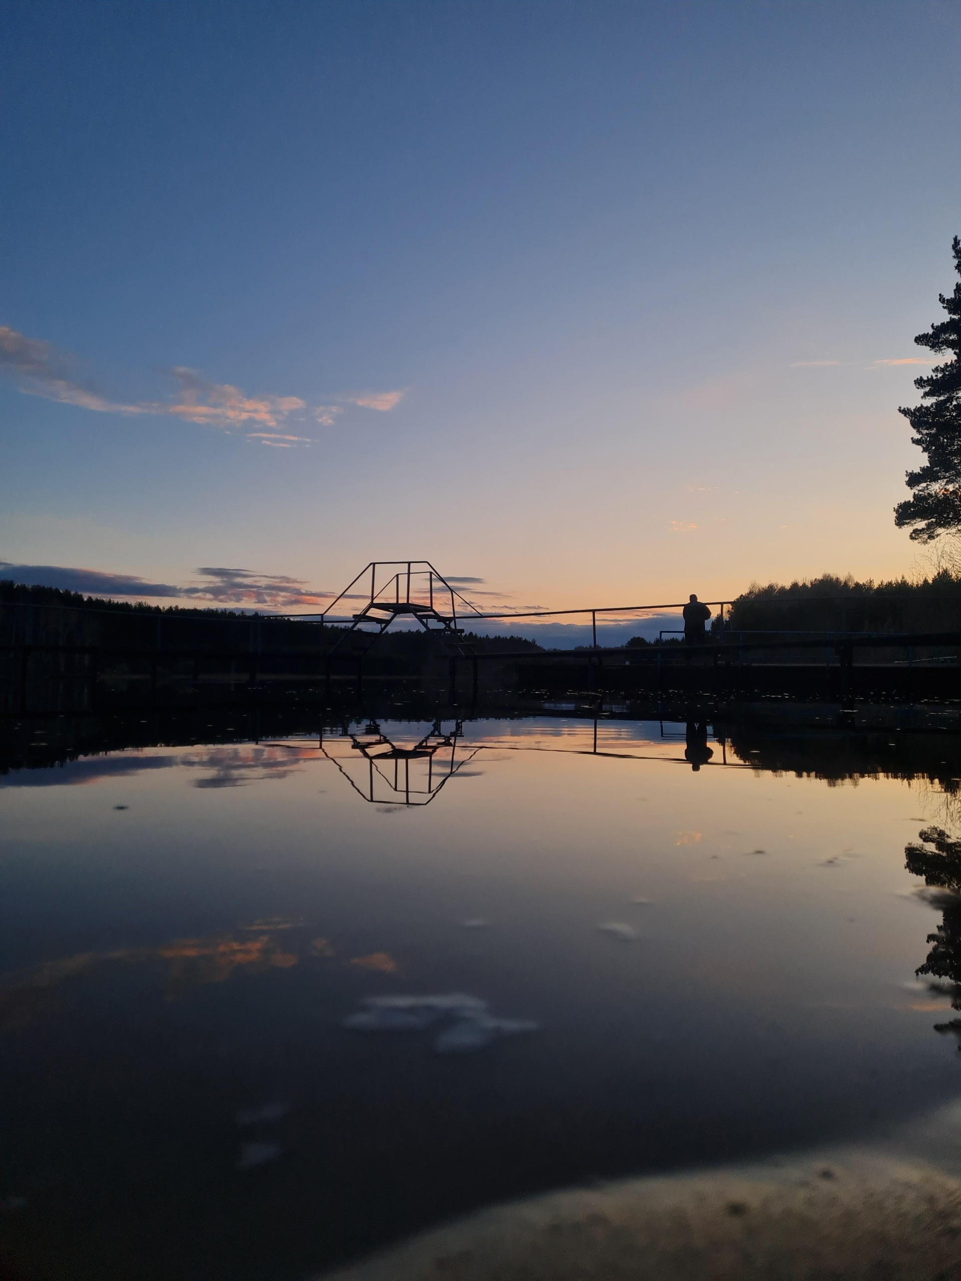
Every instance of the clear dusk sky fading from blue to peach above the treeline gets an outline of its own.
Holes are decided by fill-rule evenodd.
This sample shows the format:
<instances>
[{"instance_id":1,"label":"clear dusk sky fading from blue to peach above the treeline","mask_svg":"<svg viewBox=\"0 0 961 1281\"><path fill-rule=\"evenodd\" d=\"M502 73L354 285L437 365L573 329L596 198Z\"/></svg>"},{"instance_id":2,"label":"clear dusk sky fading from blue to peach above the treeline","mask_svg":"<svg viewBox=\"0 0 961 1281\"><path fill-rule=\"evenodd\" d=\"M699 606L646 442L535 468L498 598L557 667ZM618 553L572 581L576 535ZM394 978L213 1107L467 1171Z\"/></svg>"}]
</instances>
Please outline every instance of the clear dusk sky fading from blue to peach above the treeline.
<instances>
[{"instance_id":1,"label":"clear dusk sky fading from blue to peach above the treeline","mask_svg":"<svg viewBox=\"0 0 961 1281\"><path fill-rule=\"evenodd\" d=\"M495 611L917 573L957 0L0 22L0 576L308 611L413 557Z\"/></svg>"}]
</instances>

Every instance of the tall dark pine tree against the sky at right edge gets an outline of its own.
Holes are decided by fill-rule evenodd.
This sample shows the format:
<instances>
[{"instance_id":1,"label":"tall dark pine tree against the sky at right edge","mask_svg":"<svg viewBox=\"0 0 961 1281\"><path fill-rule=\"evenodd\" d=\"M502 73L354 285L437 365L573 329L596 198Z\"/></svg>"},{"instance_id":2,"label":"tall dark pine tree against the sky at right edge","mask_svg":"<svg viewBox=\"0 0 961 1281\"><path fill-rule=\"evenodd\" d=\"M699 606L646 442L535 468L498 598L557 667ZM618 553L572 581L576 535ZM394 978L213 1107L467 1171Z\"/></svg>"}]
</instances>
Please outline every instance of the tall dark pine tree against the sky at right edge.
<instances>
[{"instance_id":1,"label":"tall dark pine tree against the sky at right edge","mask_svg":"<svg viewBox=\"0 0 961 1281\"><path fill-rule=\"evenodd\" d=\"M961 275L961 240L951 243L955 268ZM932 351L953 354L946 365L935 365L915 387L926 405L899 409L914 428L911 437L928 455L926 466L907 473L914 496L894 507L898 528L914 525L911 538L929 543L939 534L961 534L961 281L951 297L939 295L947 320L919 333L915 342Z\"/></svg>"}]
</instances>

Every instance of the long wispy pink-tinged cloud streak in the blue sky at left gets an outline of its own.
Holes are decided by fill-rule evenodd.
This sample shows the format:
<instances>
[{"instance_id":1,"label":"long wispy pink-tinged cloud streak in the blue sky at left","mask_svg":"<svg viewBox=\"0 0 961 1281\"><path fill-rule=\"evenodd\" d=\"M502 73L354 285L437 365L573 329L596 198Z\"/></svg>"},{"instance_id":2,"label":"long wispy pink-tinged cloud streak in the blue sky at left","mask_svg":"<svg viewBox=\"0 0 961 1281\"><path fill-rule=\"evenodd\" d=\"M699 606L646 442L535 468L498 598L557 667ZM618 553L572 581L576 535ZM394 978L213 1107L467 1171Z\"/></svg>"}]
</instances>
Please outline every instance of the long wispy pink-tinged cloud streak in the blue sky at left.
<instances>
[{"instance_id":1,"label":"long wispy pink-tinged cloud streak in the blue sky at left","mask_svg":"<svg viewBox=\"0 0 961 1281\"><path fill-rule=\"evenodd\" d=\"M90 379L79 377L76 356L41 338L28 338L9 325L0 325L0 375L14 379L28 396L44 396L46 400L77 405L99 414L179 418L185 423L197 423L224 432L243 430L251 441L291 448L311 443L310 437L282 430L291 415L302 420L310 414L322 427L333 427L337 416L343 412L343 405L311 407L300 396L247 395L232 383L210 382L188 365L177 365L169 374L177 383L177 391L169 400L114 400ZM388 412L404 396L405 391L400 389L359 392L338 398L347 405Z\"/></svg>"}]
</instances>

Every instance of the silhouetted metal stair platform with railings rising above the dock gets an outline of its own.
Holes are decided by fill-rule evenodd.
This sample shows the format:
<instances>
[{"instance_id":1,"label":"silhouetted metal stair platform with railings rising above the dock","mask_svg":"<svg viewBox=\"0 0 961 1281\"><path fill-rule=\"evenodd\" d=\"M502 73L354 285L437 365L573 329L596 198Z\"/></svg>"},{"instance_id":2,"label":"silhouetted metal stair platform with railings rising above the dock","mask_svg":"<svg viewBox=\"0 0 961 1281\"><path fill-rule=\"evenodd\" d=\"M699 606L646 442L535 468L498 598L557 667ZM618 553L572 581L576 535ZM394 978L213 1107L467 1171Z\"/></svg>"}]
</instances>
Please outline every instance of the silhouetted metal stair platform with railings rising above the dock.
<instances>
[{"instance_id":1,"label":"silhouetted metal stair platform with railings rising above the dock","mask_svg":"<svg viewBox=\"0 0 961 1281\"><path fill-rule=\"evenodd\" d=\"M352 592L361 580L366 584L364 596ZM357 598L366 601L359 612L347 619L331 617L341 601ZM331 601L320 617L324 623L350 624L337 639L334 649L352 632L375 639L396 619L413 619L425 632L442 632L456 639L464 632L457 626L459 601L473 614L479 614L470 601L437 573L431 561L372 561Z\"/></svg>"}]
</instances>

